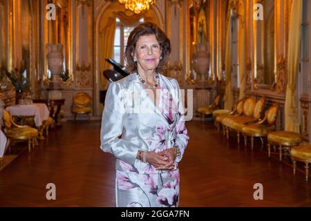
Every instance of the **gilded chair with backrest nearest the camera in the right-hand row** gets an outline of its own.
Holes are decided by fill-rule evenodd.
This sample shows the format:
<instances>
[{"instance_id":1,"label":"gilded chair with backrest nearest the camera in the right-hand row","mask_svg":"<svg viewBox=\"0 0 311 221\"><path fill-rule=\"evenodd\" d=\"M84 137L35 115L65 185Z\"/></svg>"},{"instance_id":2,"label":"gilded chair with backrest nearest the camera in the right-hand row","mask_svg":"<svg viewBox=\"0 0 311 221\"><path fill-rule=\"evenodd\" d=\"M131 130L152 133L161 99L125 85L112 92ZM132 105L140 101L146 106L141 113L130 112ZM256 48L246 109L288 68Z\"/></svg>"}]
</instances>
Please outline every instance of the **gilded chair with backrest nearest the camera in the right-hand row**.
<instances>
[{"instance_id":1,"label":"gilded chair with backrest nearest the camera in the right-hand row","mask_svg":"<svg viewBox=\"0 0 311 221\"><path fill-rule=\"evenodd\" d=\"M258 111L255 108L255 112ZM244 144L247 146L247 136L251 137L251 147L254 148L254 137L259 137L263 144L263 137L267 137L268 133L275 131L276 117L279 111L279 104L274 104L267 111L265 117L254 124L245 124L242 128L244 136Z\"/></svg>"}]
</instances>

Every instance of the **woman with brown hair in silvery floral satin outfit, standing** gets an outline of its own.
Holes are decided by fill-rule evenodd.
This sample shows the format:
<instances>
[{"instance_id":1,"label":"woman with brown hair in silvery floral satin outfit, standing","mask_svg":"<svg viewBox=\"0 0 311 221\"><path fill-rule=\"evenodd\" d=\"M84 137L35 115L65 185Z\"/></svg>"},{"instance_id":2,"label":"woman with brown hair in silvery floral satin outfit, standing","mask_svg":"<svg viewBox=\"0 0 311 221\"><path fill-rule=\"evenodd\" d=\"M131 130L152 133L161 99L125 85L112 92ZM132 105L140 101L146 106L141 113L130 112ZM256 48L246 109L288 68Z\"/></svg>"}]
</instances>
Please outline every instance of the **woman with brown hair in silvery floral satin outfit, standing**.
<instances>
[{"instance_id":1,"label":"woman with brown hair in silvery floral satin outfit, standing","mask_svg":"<svg viewBox=\"0 0 311 221\"><path fill-rule=\"evenodd\" d=\"M109 85L101 148L117 158L117 206L179 204L178 162L189 137L178 82L160 74L170 52L170 41L158 26L140 24L125 50L131 75Z\"/></svg>"}]
</instances>

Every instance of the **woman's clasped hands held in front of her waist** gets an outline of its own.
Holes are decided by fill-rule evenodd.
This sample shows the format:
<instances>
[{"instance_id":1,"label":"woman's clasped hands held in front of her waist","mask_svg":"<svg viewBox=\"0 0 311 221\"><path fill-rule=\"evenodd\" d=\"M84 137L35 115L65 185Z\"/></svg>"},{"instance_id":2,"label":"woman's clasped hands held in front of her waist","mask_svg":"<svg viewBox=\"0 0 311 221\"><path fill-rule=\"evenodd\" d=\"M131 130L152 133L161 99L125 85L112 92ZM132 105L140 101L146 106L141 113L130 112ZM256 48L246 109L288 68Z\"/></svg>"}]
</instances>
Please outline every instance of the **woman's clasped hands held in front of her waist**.
<instances>
[{"instance_id":1,"label":"woman's clasped hands held in front of her waist","mask_svg":"<svg viewBox=\"0 0 311 221\"><path fill-rule=\"evenodd\" d=\"M176 146L158 153L149 151L146 154L146 161L156 167L156 170L171 171L175 168Z\"/></svg>"}]
</instances>

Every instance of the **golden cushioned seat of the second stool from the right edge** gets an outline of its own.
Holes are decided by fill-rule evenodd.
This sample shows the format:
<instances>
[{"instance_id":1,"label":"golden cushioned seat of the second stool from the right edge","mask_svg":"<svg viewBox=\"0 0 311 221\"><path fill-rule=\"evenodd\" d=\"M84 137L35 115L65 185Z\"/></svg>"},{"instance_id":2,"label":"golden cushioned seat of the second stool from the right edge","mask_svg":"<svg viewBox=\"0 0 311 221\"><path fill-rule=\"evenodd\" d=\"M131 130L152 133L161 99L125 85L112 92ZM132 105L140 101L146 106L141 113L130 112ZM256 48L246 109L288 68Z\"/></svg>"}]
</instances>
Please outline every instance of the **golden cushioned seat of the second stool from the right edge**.
<instances>
[{"instance_id":1,"label":"golden cushioned seat of the second stool from the right edge","mask_svg":"<svg viewBox=\"0 0 311 221\"><path fill-rule=\"evenodd\" d=\"M276 143L299 144L301 142L299 133L290 131L274 131L267 135L267 139L270 142Z\"/></svg>"}]
</instances>

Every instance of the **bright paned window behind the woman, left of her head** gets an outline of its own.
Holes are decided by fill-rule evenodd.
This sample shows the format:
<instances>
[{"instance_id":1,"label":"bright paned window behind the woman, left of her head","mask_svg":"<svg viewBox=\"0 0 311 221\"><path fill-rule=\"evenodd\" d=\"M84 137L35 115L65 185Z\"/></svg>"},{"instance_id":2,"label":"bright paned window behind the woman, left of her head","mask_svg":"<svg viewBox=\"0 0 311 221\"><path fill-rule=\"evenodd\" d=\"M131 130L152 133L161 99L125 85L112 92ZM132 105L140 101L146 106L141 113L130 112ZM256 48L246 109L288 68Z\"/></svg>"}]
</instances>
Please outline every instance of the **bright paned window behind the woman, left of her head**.
<instances>
[{"instance_id":1,"label":"bright paned window behind the woman, left of her head","mask_svg":"<svg viewBox=\"0 0 311 221\"><path fill-rule=\"evenodd\" d=\"M138 26L139 23L144 22L144 18L141 18L138 23L133 23L131 25L126 25L122 23L119 18L116 18L115 21L117 22L117 26L115 28L115 41L113 44L113 59L115 59L117 63L124 66L124 51L127 44L127 39L129 38L129 34L136 26Z\"/></svg>"}]
</instances>

